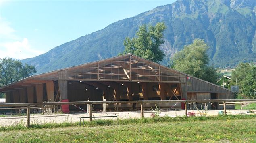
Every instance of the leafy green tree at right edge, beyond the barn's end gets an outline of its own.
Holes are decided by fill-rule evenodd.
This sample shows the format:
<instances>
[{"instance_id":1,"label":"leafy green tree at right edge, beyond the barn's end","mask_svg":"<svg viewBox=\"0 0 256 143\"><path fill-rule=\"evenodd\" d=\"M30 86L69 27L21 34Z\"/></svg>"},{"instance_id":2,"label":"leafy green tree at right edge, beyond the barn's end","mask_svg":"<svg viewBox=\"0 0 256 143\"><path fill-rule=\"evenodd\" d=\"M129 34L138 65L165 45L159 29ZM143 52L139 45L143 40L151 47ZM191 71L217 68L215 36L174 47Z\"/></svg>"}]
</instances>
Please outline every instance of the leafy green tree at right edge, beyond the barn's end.
<instances>
[{"instance_id":1,"label":"leafy green tree at right edge, beyond the barn's end","mask_svg":"<svg viewBox=\"0 0 256 143\"><path fill-rule=\"evenodd\" d=\"M241 93L238 98L256 98L256 67L253 63L240 63L231 75L231 85L239 86Z\"/></svg>"}]
</instances>

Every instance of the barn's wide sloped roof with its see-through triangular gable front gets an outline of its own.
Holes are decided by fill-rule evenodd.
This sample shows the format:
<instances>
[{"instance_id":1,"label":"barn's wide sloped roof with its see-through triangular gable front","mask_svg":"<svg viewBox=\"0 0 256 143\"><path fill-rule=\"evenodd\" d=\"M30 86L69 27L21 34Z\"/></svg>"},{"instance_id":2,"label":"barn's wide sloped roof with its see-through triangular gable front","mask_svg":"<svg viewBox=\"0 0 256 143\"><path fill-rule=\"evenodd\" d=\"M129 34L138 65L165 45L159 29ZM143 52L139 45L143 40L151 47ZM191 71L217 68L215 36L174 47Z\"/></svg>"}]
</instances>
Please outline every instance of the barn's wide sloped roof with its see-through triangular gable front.
<instances>
[{"instance_id":1,"label":"barn's wide sloped roof with its see-through triangular gable front","mask_svg":"<svg viewBox=\"0 0 256 143\"><path fill-rule=\"evenodd\" d=\"M65 76L59 76L59 72L63 71L66 72ZM185 80L181 80L181 78L186 78L184 76L180 77L180 74L192 77L144 58L140 58L132 54L125 54L60 70L54 70L47 73L32 75L6 85L1 89L10 87L15 88L15 86L26 86L34 83L45 83L47 80L180 83L180 81ZM204 81L202 79L199 80Z\"/></svg>"}]
</instances>

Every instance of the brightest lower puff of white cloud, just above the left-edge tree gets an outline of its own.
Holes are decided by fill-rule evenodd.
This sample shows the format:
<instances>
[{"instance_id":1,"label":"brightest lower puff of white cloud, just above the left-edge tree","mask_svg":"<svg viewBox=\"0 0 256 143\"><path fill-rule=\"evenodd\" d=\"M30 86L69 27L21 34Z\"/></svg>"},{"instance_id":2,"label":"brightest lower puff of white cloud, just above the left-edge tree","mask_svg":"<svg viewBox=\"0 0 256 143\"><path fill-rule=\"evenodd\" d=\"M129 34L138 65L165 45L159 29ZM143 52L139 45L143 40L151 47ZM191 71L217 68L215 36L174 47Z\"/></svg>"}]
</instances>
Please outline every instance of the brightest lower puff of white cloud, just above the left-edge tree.
<instances>
[{"instance_id":1,"label":"brightest lower puff of white cloud, just above the left-edge tree","mask_svg":"<svg viewBox=\"0 0 256 143\"><path fill-rule=\"evenodd\" d=\"M32 49L27 38L23 38L22 41L0 43L0 53L0 58L9 56L11 58L24 59L44 52Z\"/></svg>"}]
</instances>

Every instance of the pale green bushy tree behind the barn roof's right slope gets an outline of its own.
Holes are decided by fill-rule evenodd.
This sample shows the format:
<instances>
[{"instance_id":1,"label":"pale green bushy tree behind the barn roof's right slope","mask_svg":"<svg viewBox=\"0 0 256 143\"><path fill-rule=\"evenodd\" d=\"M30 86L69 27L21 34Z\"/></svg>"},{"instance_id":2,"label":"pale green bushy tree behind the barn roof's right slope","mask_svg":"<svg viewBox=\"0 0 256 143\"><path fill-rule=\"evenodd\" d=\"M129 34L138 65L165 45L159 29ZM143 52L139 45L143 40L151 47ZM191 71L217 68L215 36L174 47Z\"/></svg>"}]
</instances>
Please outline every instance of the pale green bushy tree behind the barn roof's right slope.
<instances>
[{"instance_id":1,"label":"pale green bushy tree behind the barn roof's right slope","mask_svg":"<svg viewBox=\"0 0 256 143\"><path fill-rule=\"evenodd\" d=\"M170 60L171 68L216 83L219 74L215 68L208 66L208 48L204 40L195 39L192 44L184 46L183 50L174 54Z\"/></svg>"}]
</instances>

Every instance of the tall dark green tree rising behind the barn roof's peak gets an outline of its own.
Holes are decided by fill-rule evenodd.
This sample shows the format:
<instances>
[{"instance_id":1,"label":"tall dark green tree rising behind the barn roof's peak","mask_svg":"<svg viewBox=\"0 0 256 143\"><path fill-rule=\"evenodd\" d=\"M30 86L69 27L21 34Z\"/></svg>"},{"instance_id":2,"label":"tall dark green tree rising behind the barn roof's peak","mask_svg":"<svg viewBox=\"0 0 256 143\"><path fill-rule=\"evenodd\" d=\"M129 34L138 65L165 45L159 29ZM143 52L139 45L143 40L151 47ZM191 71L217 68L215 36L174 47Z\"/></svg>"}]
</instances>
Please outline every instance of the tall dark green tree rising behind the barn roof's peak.
<instances>
[{"instance_id":1,"label":"tall dark green tree rising behind the barn roof's peak","mask_svg":"<svg viewBox=\"0 0 256 143\"><path fill-rule=\"evenodd\" d=\"M155 26L146 25L139 27L136 38L125 38L125 51L122 54L135 54L153 62L161 62L164 58L164 52L160 46L164 44L164 30L166 26L164 23L157 23Z\"/></svg>"}]
</instances>

